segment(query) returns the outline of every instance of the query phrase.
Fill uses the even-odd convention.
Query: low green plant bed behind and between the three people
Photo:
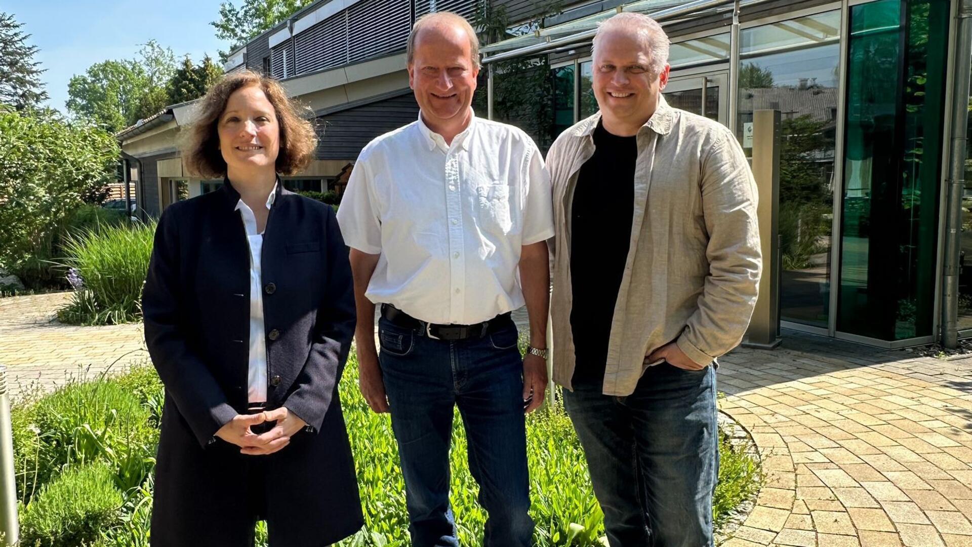
[[[391,419],[388,415],[375,415],[367,408],[358,390],[358,369],[353,356],[339,388],[357,462],[365,520],[364,529],[339,545],[404,547],[409,543],[408,518]],[[48,513],[61,515],[63,511],[59,507],[63,503],[44,501],[53,496],[47,492],[68,478],[80,481],[75,478],[74,470],[87,469],[94,463],[108,472],[98,471],[99,480],[104,484],[99,487],[101,493],[93,498],[118,501],[109,496],[111,489],[124,492],[124,496],[121,502],[115,503],[119,511],[113,524],[99,521],[102,532],[93,546],[147,546],[153,496],[150,472],[155,464],[161,401],[162,385],[155,370],[141,366],[115,379],[71,384],[36,402],[17,405],[13,419],[17,491],[26,505],[21,513],[23,526],[30,524],[33,529],[48,530],[44,532],[48,535],[37,537],[50,539],[61,533],[57,530],[62,530],[65,536],[69,534],[66,528],[32,523],[52,523],[60,518]],[[724,435],[720,439],[722,463],[714,501],[716,523],[722,523],[740,501],[754,492],[759,472],[750,456],[734,449]],[[466,435],[458,413],[452,440],[451,500],[460,542],[478,545],[486,513],[476,501],[478,487],[469,473]],[[591,489],[579,442],[563,407],[554,404],[528,417],[527,445],[533,498],[531,516],[537,523],[535,544],[538,547],[602,545],[603,515]],[[112,504],[98,506],[107,505]],[[78,514],[87,515],[84,511]],[[102,515],[93,510],[91,514]],[[33,520],[23,520],[27,515]],[[258,545],[265,546],[265,526],[258,527],[257,537]],[[44,543],[48,544],[67,543]]]

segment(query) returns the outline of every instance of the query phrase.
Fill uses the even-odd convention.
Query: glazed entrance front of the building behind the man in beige
[[[780,112],[782,326],[886,347],[972,335],[972,185],[950,171],[969,165],[968,2],[629,3],[484,48],[493,117],[537,112],[529,130],[549,143],[593,114],[590,39],[619,10],[662,21],[668,101],[733,129],[747,155],[753,112]],[[543,104],[507,100],[532,80]]]

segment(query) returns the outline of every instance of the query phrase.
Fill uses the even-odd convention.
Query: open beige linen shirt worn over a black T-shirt
[[[571,210],[601,114],[565,130],[547,154],[553,184],[553,377],[572,388]],[[677,342],[709,364],[743,339],[762,270],[756,185],[728,128],[664,98],[637,135],[635,213],[611,321],[604,393],[625,396],[645,356]],[[604,181],[605,192],[612,184]],[[659,361],[660,362],[660,361]]]

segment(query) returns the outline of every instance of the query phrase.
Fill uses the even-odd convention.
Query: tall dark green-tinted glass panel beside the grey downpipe
[[[932,334],[948,0],[851,7],[840,331]]]

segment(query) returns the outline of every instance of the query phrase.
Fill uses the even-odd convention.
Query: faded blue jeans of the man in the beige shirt
[[[715,369],[648,367],[635,392],[564,390],[611,547],[713,545]]]

